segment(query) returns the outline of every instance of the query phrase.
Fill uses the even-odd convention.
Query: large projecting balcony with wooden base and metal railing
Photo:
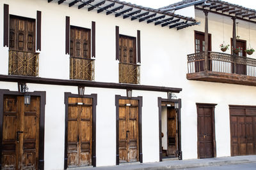
[[[205,53],[189,54],[187,79],[256,86],[256,59],[209,52],[207,65]]]

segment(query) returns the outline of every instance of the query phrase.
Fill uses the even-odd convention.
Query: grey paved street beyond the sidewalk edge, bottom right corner
[[[226,170],[226,169],[228,169],[228,170],[231,170],[231,169],[232,170],[251,170],[251,169],[256,169],[256,163],[188,168],[188,170]]]

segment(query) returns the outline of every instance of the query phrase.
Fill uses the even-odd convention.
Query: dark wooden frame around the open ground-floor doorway
[[[181,150],[181,99],[163,99],[158,97],[158,117],[159,117],[159,162],[163,161],[163,150],[162,150],[162,102],[178,102],[179,109],[178,109],[178,147],[179,147],[179,160],[182,160],[182,150]]]

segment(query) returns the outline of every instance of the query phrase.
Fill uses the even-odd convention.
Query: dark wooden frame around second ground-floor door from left
[[[64,151],[64,169],[67,169],[67,143],[68,143],[68,97],[79,97],[79,98],[92,98],[92,166],[96,167],[96,106],[97,106],[97,94],[91,95],[78,95],[65,92],[65,151]]]

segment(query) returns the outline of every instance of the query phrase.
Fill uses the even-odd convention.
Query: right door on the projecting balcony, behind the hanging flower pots
[[[233,39],[231,38],[231,49],[233,54],[233,45],[232,45]],[[236,40],[236,46],[237,48],[240,48],[240,52],[238,53],[238,56],[240,57],[246,57],[246,41],[245,40]],[[236,64],[236,73],[237,74],[247,74],[246,64]]]

